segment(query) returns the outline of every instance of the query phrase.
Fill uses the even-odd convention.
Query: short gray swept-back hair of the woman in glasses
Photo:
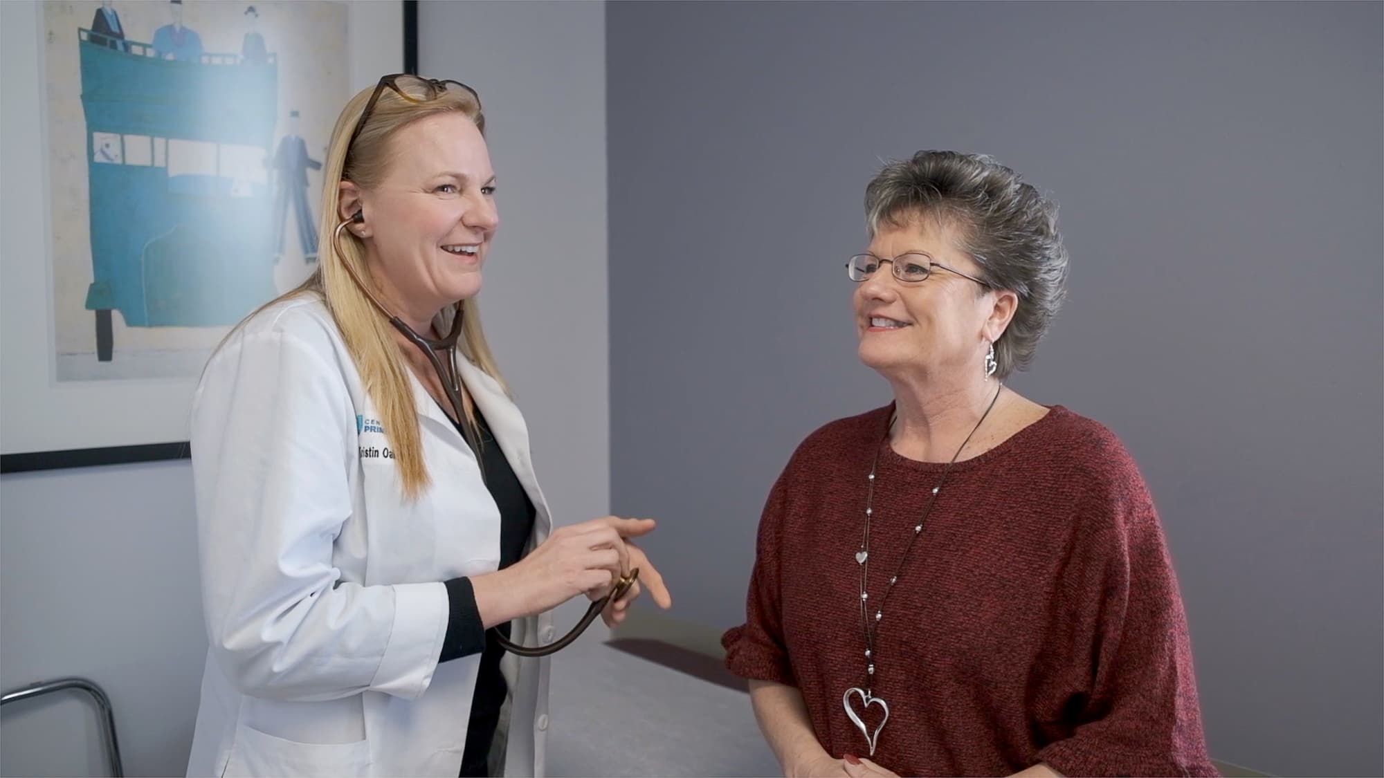
[[[1067,291],[1067,249],[1057,203],[984,154],[919,151],[894,161],[865,187],[871,237],[882,224],[929,216],[955,226],[959,245],[992,288],[1019,295],[1019,307],[995,343],[995,374],[1028,367],[1038,341]]]

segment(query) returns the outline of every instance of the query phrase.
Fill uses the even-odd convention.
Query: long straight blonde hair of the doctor
[[[365,109],[365,102],[374,93],[374,87],[357,93],[346,102],[346,108],[336,119],[327,159],[322,163],[322,216],[318,224],[318,242],[325,251],[321,252],[317,271],[300,287],[278,299],[317,293],[327,303],[327,309],[346,342],[346,350],[356,363],[356,370],[360,371],[365,392],[375,401],[379,421],[394,450],[403,493],[412,500],[428,487],[432,479],[428,473],[428,465],[424,462],[422,435],[418,426],[418,408],[414,403],[408,365],[404,361],[400,343],[394,339],[393,325],[352,278],[354,273],[361,282],[370,282],[364,242],[350,230],[342,230],[339,242],[335,239],[336,227],[343,221],[339,184],[353,181],[364,190],[376,187],[393,161],[394,148],[390,140],[414,122],[437,114],[458,112],[471,118],[483,136],[486,118],[480,112],[480,101],[476,100],[475,94],[459,86],[448,84],[448,89],[437,93],[436,97],[426,98],[429,91],[422,79],[407,76],[400,78],[396,83],[399,89],[419,102],[404,100],[392,89],[382,89],[354,143],[350,140],[352,134],[356,132],[356,125],[360,122],[360,115]],[[462,359],[469,360],[494,378],[508,393],[495,357],[486,343],[476,300],[462,300],[458,303],[458,309],[462,317],[462,335],[457,342],[457,352],[461,353]],[[439,354],[444,361],[450,356]],[[461,399],[466,417],[462,424],[466,425],[469,437],[479,442],[476,415],[471,393],[465,386],[461,389]]]

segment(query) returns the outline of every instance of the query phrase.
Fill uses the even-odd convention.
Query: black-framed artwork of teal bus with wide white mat
[[[187,457],[212,349],[317,264],[338,112],[417,71],[417,1],[0,6],[32,181],[4,187],[0,472]]]

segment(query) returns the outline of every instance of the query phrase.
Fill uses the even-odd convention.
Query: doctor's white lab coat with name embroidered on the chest
[[[537,509],[533,548],[551,516],[523,417],[457,363]],[[457,428],[412,386],[432,486],[410,503],[318,298],[260,311],[208,364],[191,440],[210,649],[188,775],[455,778],[480,655],[437,663],[441,581],[497,569],[500,512]],[[512,630],[552,641],[547,613]],[[543,775],[548,660],[507,655],[502,670],[505,775]]]

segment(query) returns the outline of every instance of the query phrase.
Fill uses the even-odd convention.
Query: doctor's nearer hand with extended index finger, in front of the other
[[[624,539],[650,532],[653,519],[619,516],[558,527],[531,554],[507,568],[519,587],[525,613],[541,613],[579,594],[609,590],[630,569]]]

